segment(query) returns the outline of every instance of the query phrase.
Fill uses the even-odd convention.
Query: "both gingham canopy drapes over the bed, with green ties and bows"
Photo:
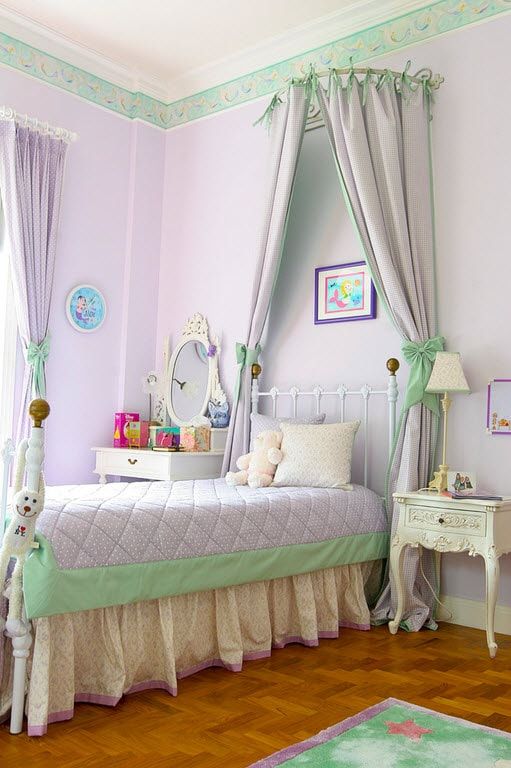
[[[437,351],[444,340],[437,335],[435,297],[435,238],[431,172],[431,89],[442,78],[428,71],[419,77],[388,70],[365,70],[359,81],[353,67],[343,77],[329,73],[325,89],[311,70],[298,90],[271,115],[272,163],[265,227],[246,345],[238,345],[239,401],[236,398],[229,432],[224,472],[246,452],[249,442],[250,366],[259,354],[280,263],[285,224],[305,128],[308,93],[315,93],[330,139],[344,199],[359,237],[380,300],[402,338],[402,351],[410,365],[394,449],[388,467],[386,500],[392,530],[397,525],[394,491],[423,488],[431,474],[438,433],[438,398],[425,393]],[[297,95],[301,98],[298,100]],[[298,106],[300,102],[301,108]],[[273,111],[273,115],[271,114]],[[294,117],[293,117],[294,115]],[[303,121],[303,122],[302,122]],[[286,141],[289,139],[289,141]],[[247,367],[248,366],[248,367]],[[417,550],[405,555],[408,589],[404,626],[436,627],[433,553]],[[393,585],[387,580],[373,611],[373,621],[394,615]]]

